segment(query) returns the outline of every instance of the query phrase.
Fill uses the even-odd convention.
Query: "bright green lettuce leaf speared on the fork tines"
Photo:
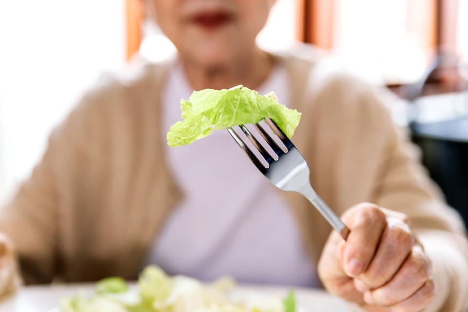
[[[194,91],[189,101],[180,101],[183,121],[177,121],[167,134],[169,146],[190,144],[209,136],[213,130],[250,124],[271,118],[292,137],[301,113],[278,103],[274,94],[262,96],[243,86],[231,89]]]

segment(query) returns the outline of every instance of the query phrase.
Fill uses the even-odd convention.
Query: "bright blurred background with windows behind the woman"
[[[1,203],[100,75],[175,53],[143,6],[0,1]],[[395,93],[395,121],[409,125],[430,175],[468,221],[468,0],[277,0],[257,42],[323,55]]]

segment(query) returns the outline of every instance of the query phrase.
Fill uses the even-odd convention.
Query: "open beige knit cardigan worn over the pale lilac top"
[[[309,163],[313,188],[337,214],[362,201],[408,214],[433,260],[434,309],[460,311],[468,294],[463,224],[376,90],[312,60],[274,59],[286,66],[292,106],[303,113],[292,140]],[[132,77],[103,78],[55,129],[32,176],[1,209],[0,232],[16,244],[26,283],[137,277],[182,196],[162,153],[168,68],[147,64]],[[280,193],[317,263],[331,227],[306,199]]]

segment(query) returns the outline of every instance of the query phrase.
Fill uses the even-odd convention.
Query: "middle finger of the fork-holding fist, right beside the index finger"
[[[414,236],[408,224],[395,218],[387,218],[377,252],[367,270],[358,278],[370,289],[387,283],[411,253]]]

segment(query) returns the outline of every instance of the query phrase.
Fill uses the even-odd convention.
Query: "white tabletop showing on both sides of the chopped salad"
[[[47,312],[57,307],[60,299],[76,294],[80,290],[92,292],[93,286],[91,284],[70,284],[23,287],[14,295],[0,302],[0,312]],[[283,297],[288,289],[275,286],[241,286],[239,291],[254,291]],[[343,300],[322,290],[295,288],[294,292],[299,305],[311,312],[351,311]]]

